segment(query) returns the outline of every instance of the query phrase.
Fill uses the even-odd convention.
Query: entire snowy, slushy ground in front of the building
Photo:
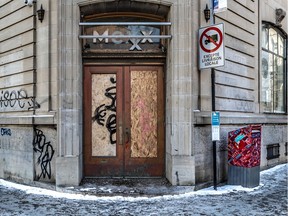
[[[278,165],[261,172],[258,187],[219,185],[217,191],[171,186],[165,179],[87,179],[57,191],[0,179],[0,215],[287,216],[287,173],[288,164]]]

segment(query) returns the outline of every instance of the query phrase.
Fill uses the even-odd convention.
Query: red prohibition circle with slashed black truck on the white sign
[[[209,31],[216,31],[219,35],[219,40],[215,41],[210,35],[208,35],[207,32]],[[214,44],[215,47],[211,49],[206,48],[203,44],[203,37],[206,37],[208,42]],[[223,42],[223,34],[219,28],[214,27],[214,26],[205,29],[200,36],[200,47],[204,52],[207,52],[207,53],[215,52],[217,49],[219,49],[222,42]]]

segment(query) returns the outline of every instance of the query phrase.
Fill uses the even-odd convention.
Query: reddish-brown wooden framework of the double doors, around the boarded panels
[[[161,74],[162,74],[162,81],[160,81],[160,86],[159,85],[159,78],[158,78],[158,83],[157,83],[157,89],[160,88],[160,92],[162,92],[162,96],[160,98],[160,100],[158,100],[158,104],[157,104],[157,110],[158,110],[158,115],[159,115],[159,112],[162,113],[161,115],[161,120],[163,123],[162,123],[162,129],[159,129],[160,127],[160,124],[161,122],[159,123],[157,121],[157,131],[160,132],[161,134],[159,134],[159,136],[162,137],[162,150],[159,149],[159,146],[160,145],[157,145],[157,152],[158,154],[160,154],[160,160],[162,160],[162,163],[160,165],[157,165],[157,166],[152,166],[153,167],[153,170],[150,172],[151,175],[141,175],[141,176],[134,176],[134,175],[128,175],[127,172],[130,172],[130,170],[133,170],[133,169],[136,169],[137,170],[137,166],[139,166],[139,161],[142,160],[143,161],[143,158],[131,158],[130,157],[130,169],[128,169],[126,167],[126,164],[128,163],[128,157],[130,154],[129,154],[129,151],[130,151],[130,148],[127,148],[126,147],[122,147],[120,145],[116,145],[116,153],[117,154],[122,154],[124,155],[122,157],[121,160],[119,160],[118,157],[115,157],[115,160],[111,160],[111,158],[109,157],[109,160],[110,160],[110,163],[109,165],[107,164],[107,166],[105,166],[107,163],[106,159],[107,157],[94,157],[92,160],[95,161],[96,163],[98,164],[101,164],[101,170],[108,170],[109,169],[109,172],[106,172],[106,173],[113,173],[113,175],[99,175],[99,176],[91,176],[90,174],[87,174],[87,169],[90,169],[90,168],[95,168],[95,165],[91,165],[92,167],[89,167],[90,165],[86,164],[86,159],[89,155],[89,149],[87,149],[87,146],[85,146],[85,143],[86,142],[91,142],[91,136],[85,136],[85,131],[91,131],[91,117],[89,115],[85,115],[85,111],[87,110],[87,106],[91,108],[91,105],[88,104],[90,103],[91,101],[91,89],[92,89],[92,85],[91,85],[91,72],[89,75],[87,75],[87,73],[89,72],[86,72],[86,68],[97,68],[98,70],[99,69],[104,69],[106,70],[105,73],[114,73],[115,71],[118,71],[115,72],[116,74],[116,79],[117,79],[117,82],[121,82],[123,83],[123,79],[124,79],[124,76],[121,75],[121,72],[119,73],[119,71],[123,70],[123,74],[126,73],[126,74],[129,74],[130,76],[130,73],[128,71],[127,73],[127,70],[130,70],[130,69],[137,69],[137,68],[155,68],[157,67],[158,69],[160,68],[161,70]],[[88,69],[87,69],[88,70]],[[114,71],[114,72],[113,72]],[[141,178],[141,177],[164,177],[165,176],[165,152],[166,152],[166,142],[165,142],[165,131],[166,131],[166,128],[165,128],[165,72],[164,72],[164,65],[163,64],[137,64],[137,65],[134,65],[134,64],[83,64],[83,157],[84,157],[84,160],[83,160],[83,173],[84,173],[84,177],[137,177],[137,178]],[[86,74],[85,74],[86,73]],[[120,75],[119,75],[120,74]],[[90,86],[88,87],[88,92],[87,92],[87,89],[85,89],[85,85],[87,85],[87,83],[90,83]],[[121,88],[122,85],[117,85],[116,86],[116,90],[117,90],[117,95],[119,94],[118,92],[120,92],[121,95],[129,95],[129,87],[130,87],[130,82],[129,82],[129,87],[123,87],[123,89]],[[125,92],[124,92],[125,91]],[[158,92],[158,91],[157,91]],[[130,98],[130,96],[129,96]],[[125,97],[125,100],[127,99],[127,97]],[[130,99],[129,99],[130,100]],[[124,100],[117,100],[117,106],[116,106],[116,109],[118,111],[118,109],[122,109],[123,111],[123,108],[124,108],[124,104],[123,103],[126,103],[127,101],[124,101]],[[120,112],[122,112],[120,111]],[[128,115],[125,115],[126,117],[125,118],[130,118],[130,113]],[[89,119],[90,118],[90,119]],[[118,124],[120,124],[121,126],[124,126],[123,125],[123,122],[122,122],[122,116],[119,116],[117,115],[116,117],[117,119],[117,130],[118,130]],[[126,119],[125,122],[129,122],[130,120]],[[88,122],[88,123],[87,123]],[[130,123],[130,122],[129,122]],[[87,132],[86,132],[87,133]],[[90,132],[89,132],[90,133]],[[116,140],[120,140],[120,136],[121,136],[121,139],[126,139],[125,137],[125,134],[122,133],[122,135],[120,135],[120,133],[117,132],[117,138]],[[123,141],[125,142],[125,141]],[[125,144],[125,143],[124,143]],[[130,147],[131,147],[131,144],[130,144]],[[126,150],[125,150],[126,149]],[[90,151],[91,152],[91,151]],[[126,156],[126,157],[125,157]],[[92,157],[92,156],[90,156]],[[159,159],[158,159],[159,160]],[[150,165],[150,164],[153,164],[155,160],[153,160],[152,158],[148,158],[147,161],[145,161],[145,163],[147,163],[147,165]],[[111,163],[112,162],[112,163]],[[142,162],[143,163],[143,162]],[[112,165],[112,166],[111,166]],[[149,169],[150,170],[150,169]],[[161,172],[159,172],[159,170],[161,170]],[[132,172],[131,172],[132,173]]]

